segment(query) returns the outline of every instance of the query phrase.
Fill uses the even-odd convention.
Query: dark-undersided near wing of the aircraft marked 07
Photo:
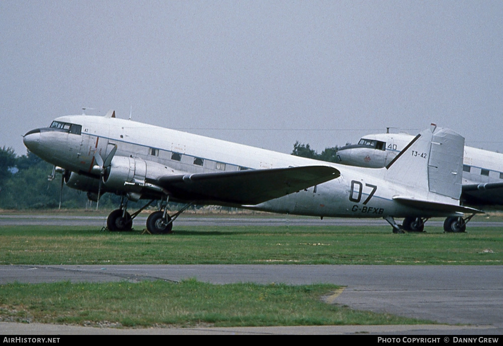
[[[155,184],[179,199],[253,205],[339,176],[333,167],[303,166],[164,176]]]

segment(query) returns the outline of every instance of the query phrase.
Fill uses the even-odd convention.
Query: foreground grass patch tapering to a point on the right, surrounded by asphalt
[[[324,303],[339,287],[186,280],[0,286],[0,320],[114,327],[431,323]]]

